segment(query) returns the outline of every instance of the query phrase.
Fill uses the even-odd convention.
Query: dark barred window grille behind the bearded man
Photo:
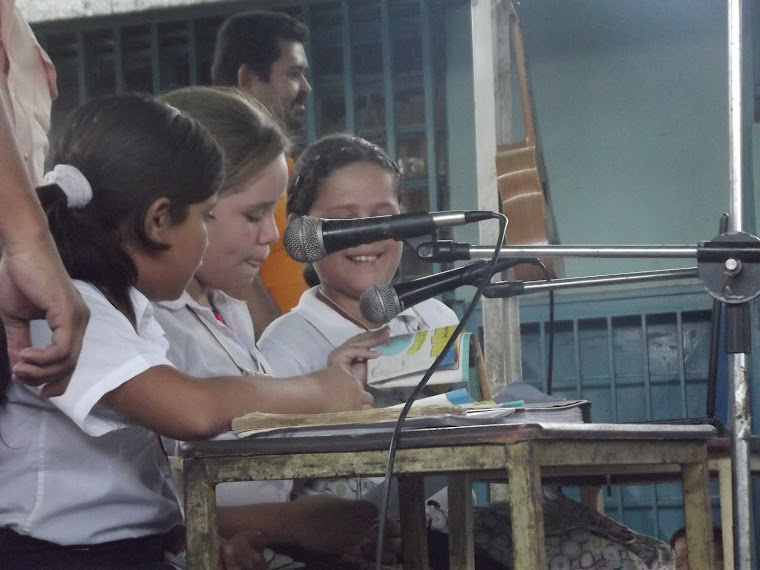
[[[271,4],[312,32],[307,141],[335,131],[367,138],[399,162],[406,210],[445,208],[441,10],[428,0]],[[250,5],[219,3],[37,24],[34,31],[58,71],[52,134],[71,109],[98,95],[210,83],[216,31],[245,9]],[[402,267],[405,277],[428,270],[411,256]]]

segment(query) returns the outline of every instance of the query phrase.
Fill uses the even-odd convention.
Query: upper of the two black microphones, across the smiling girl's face
[[[435,233],[441,227],[461,226],[493,217],[493,212],[479,210],[415,212],[347,219],[300,216],[285,228],[282,243],[285,251],[296,261],[313,263],[335,251],[356,245],[385,239],[400,241]]]

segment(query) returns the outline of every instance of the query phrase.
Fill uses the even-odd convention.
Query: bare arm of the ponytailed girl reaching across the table
[[[108,392],[101,402],[161,435],[208,439],[249,412],[319,413],[359,410],[372,396],[345,365],[294,378],[263,374],[198,379],[153,366]]]

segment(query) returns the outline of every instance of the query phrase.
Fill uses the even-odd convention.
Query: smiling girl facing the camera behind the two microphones
[[[288,187],[288,215],[364,218],[398,214],[401,174],[378,146],[348,134],[325,137],[308,147],[295,164]],[[310,269],[319,285],[306,291],[297,307],[279,317],[261,336],[259,349],[278,376],[319,370],[327,355],[353,335],[376,328],[359,310],[359,296],[389,283],[401,261],[402,244],[385,240],[338,251]],[[436,299],[424,301],[393,319],[391,335],[434,329],[458,322]],[[372,390],[371,390],[372,391]],[[375,405],[404,401],[403,391],[372,391]]]

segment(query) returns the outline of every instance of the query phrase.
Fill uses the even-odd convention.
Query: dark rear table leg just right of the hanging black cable
[[[428,570],[425,489],[419,475],[398,478],[404,570]]]

